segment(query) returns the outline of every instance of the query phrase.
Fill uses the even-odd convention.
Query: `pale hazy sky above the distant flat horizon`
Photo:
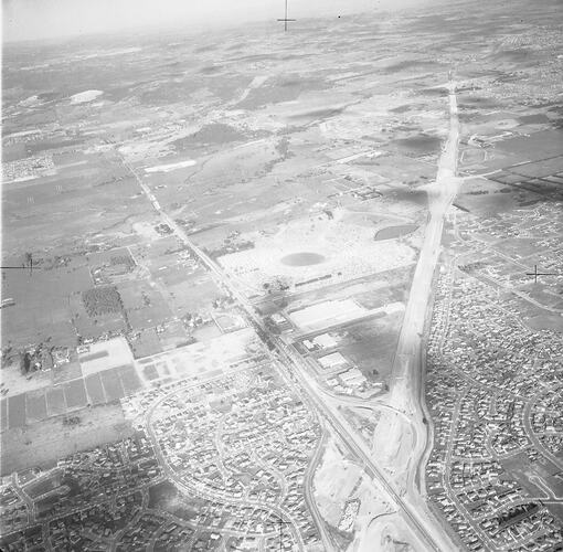
[[[428,0],[288,0],[289,17],[333,15]],[[3,40],[35,40],[144,26],[209,28],[284,15],[284,0],[2,0]]]

